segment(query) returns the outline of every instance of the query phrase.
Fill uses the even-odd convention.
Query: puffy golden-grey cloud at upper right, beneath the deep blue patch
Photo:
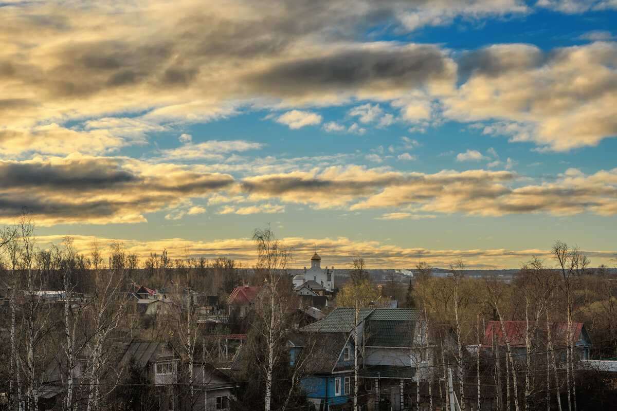
[[[546,150],[594,146],[617,134],[617,45],[597,42],[544,55],[533,46],[500,44],[463,59],[465,84],[444,99],[445,116],[523,124],[513,140]]]

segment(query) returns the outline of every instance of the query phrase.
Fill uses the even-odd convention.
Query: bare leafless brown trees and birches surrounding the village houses
[[[35,221],[25,211],[14,226],[0,232],[2,306],[0,315],[0,406],[45,408],[48,381],[61,381],[56,402],[64,410],[151,410],[154,387],[137,364],[121,364],[131,340],[164,341],[186,364],[217,365],[217,347],[202,335],[247,333],[240,368],[234,375],[231,409],[304,407],[303,370],[290,365],[286,337],[297,327],[299,301],[287,274],[291,250],[270,229],[255,230],[258,263],[247,274],[225,257],[195,259],[189,250],[173,258],[152,252],[145,261],[121,242],[93,242],[87,253],[67,237],[59,245],[36,242]],[[564,411],[601,409],[617,401],[617,378],[581,365],[571,341],[583,323],[594,346],[593,358],[617,357],[617,275],[606,267],[592,270],[578,248],[556,242],[553,258],[533,258],[511,283],[465,276],[465,264],[452,262],[449,277],[433,277],[423,262],[408,284],[391,277],[377,286],[354,258],[350,280],[341,285],[336,304],[379,306],[389,298],[399,307],[424,313],[428,323],[423,348],[423,379],[415,384],[415,407],[436,410],[448,402],[447,368],[455,391],[474,409]],[[243,274],[241,274],[243,273]],[[199,324],[199,307],[218,295],[220,305],[244,282],[262,286],[246,317],[231,310],[228,324]],[[170,312],[138,315],[129,293],[135,284],[160,290],[180,287]],[[56,291],[54,301],[44,293]],[[330,307],[331,309],[331,307]],[[507,335],[508,322],[523,324],[518,340],[486,340],[487,325]],[[490,323],[492,322],[492,323]],[[549,324],[566,324],[561,334]],[[565,335],[565,338],[563,338]],[[522,341],[522,342],[521,342]],[[360,341],[356,344],[359,346]],[[354,352],[361,364],[361,352]],[[71,370],[79,369],[77,382]],[[355,375],[360,365],[355,368]],[[179,401],[194,404],[193,367],[179,370]],[[184,381],[184,382],[181,382]],[[46,391],[47,390],[47,391]],[[362,387],[354,381],[354,397]],[[249,405],[250,404],[250,405]],[[189,407],[190,408],[190,407]]]

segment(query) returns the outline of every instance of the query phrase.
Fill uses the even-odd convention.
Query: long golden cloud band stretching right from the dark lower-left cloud
[[[399,173],[383,168],[331,167],[247,177],[241,182],[249,199],[278,198],[313,208],[397,208],[383,219],[418,218],[417,213],[465,213],[482,216],[547,212],[555,215],[617,210],[617,169],[586,175],[576,169],[555,182],[523,185],[510,171],[444,170],[435,174]]]

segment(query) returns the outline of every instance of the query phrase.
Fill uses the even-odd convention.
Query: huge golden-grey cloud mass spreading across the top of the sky
[[[356,102],[399,111],[378,127],[497,119],[524,132],[493,131],[550,150],[615,136],[614,43],[547,54],[500,44],[460,58],[436,44],[355,41],[379,24],[526,12],[515,0],[16,2],[0,9],[0,147],[109,153],[247,107],[284,108],[272,118],[300,128],[322,121],[307,107]]]

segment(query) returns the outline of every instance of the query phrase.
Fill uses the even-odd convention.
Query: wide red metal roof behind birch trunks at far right
[[[529,322],[529,328],[534,326],[534,322]],[[562,343],[566,343],[568,335],[568,323],[566,322],[549,322],[550,335],[552,340],[558,340]],[[571,341],[576,343],[581,336],[583,324],[582,322],[573,322],[571,328]],[[507,345],[506,338],[510,342],[511,347],[524,347],[525,346],[525,332],[527,328],[526,321],[504,321],[503,329],[499,321],[489,321],[486,325],[486,331],[484,332],[484,340],[482,346],[491,347],[493,344],[493,335],[495,336],[495,343],[499,346]],[[505,332],[505,333],[504,333]],[[537,326],[537,332],[546,333],[546,322],[540,322]]]

